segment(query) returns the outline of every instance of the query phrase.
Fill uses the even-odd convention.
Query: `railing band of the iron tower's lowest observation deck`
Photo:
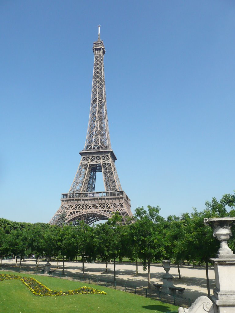
[[[122,191],[96,191],[96,192],[70,192],[70,193],[62,193],[62,199],[69,198],[97,198],[97,197],[124,197],[129,203],[131,200],[128,198],[126,193]]]

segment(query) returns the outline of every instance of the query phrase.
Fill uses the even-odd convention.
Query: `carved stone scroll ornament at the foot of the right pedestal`
[[[190,308],[180,307],[178,313],[214,313],[214,307],[212,301],[205,295],[202,295],[193,302]]]

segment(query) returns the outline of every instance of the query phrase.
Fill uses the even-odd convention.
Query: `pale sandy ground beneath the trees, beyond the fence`
[[[26,259],[22,261],[22,267],[32,266],[35,267],[35,260],[29,261]],[[46,262],[39,260],[40,265],[44,265]],[[56,269],[57,262],[50,262],[52,267]],[[3,260],[2,265],[14,266],[15,260]],[[18,263],[19,265],[19,263]],[[103,262],[97,263],[85,263],[85,276],[92,275],[97,276],[100,279],[113,280],[113,263],[108,263],[108,272],[105,272],[106,264]],[[62,262],[59,262],[59,267],[56,269],[58,272],[62,272]],[[165,273],[161,264],[151,264],[151,284],[162,283],[161,276]],[[81,262],[65,262],[65,274],[76,274],[80,275],[82,273],[82,263]],[[170,274],[173,275],[173,284],[175,286],[185,288],[183,295],[185,298],[196,299],[201,295],[207,295],[206,288],[206,268],[204,266],[192,265],[180,266],[181,279],[178,276],[178,269],[176,265],[172,265],[170,269]],[[122,262],[116,263],[116,280],[120,283],[133,284],[136,286],[148,286],[148,273],[143,271],[142,265],[138,264],[138,275],[136,275],[136,265],[134,263]],[[209,280],[211,294],[213,294],[213,288],[215,288],[215,274],[213,267],[209,268]]]

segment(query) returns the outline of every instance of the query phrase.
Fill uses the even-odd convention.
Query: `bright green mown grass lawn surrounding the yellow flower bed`
[[[0,271],[0,273],[13,274],[13,272],[3,271]],[[0,281],[1,313],[159,313],[178,310],[178,307],[174,305],[112,288],[47,276],[22,273],[17,273],[17,275],[34,277],[52,290],[71,290],[82,286],[91,286],[107,292],[107,295],[87,294],[40,297],[33,295],[20,280],[4,280]]]

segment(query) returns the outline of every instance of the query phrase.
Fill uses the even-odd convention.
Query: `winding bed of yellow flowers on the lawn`
[[[0,274],[0,281],[2,280],[21,280],[22,283],[34,294],[39,296],[58,296],[58,295],[79,295],[79,294],[96,294],[96,295],[107,295],[106,292],[94,289],[91,287],[83,286],[78,289],[58,291],[50,290],[48,287],[41,284],[38,280],[32,277],[22,277],[20,275],[13,274]]]

